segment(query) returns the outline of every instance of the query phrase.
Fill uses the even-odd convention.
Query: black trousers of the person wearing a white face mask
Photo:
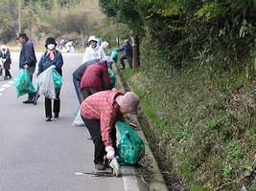
[[[54,99],[54,113],[58,114],[60,111],[60,98],[59,98],[60,90],[56,96],[57,99]],[[52,114],[52,99],[46,98],[44,99],[44,108],[45,108],[45,116],[46,117],[53,117]]]

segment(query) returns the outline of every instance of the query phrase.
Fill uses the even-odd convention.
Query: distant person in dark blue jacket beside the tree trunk
[[[132,47],[130,46],[128,39],[125,40],[125,45],[121,49],[116,50],[116,52],[122,52],[122,51],[125,51],[125,55],[123,55],[120,58],[120,63],[122,65],[122,68],[120,70],[126,69],[126,65],[124,62],[125,59],[128,60],[128,67],[132,69]]]

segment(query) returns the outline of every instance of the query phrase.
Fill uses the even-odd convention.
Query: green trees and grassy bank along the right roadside
[[[256,190],[256,3],[100,5],[139,36],[140,67],[122,74],[170,190]]]

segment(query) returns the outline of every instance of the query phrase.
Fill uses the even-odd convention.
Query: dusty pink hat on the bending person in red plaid
[[[137,107],[140,103],[139,96],[135,95],[132,92],[128,92],[125,96],[117,96],[116,102],[122,108],[124,108],[128,114],[136,115],[137,114]]]

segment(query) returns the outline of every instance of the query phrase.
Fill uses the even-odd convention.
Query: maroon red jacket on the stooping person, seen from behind
[[[97,92],[109,90],[111,87],[107,65],[97,62],[86,68],[81,77],[80,88],[94,88]]]

